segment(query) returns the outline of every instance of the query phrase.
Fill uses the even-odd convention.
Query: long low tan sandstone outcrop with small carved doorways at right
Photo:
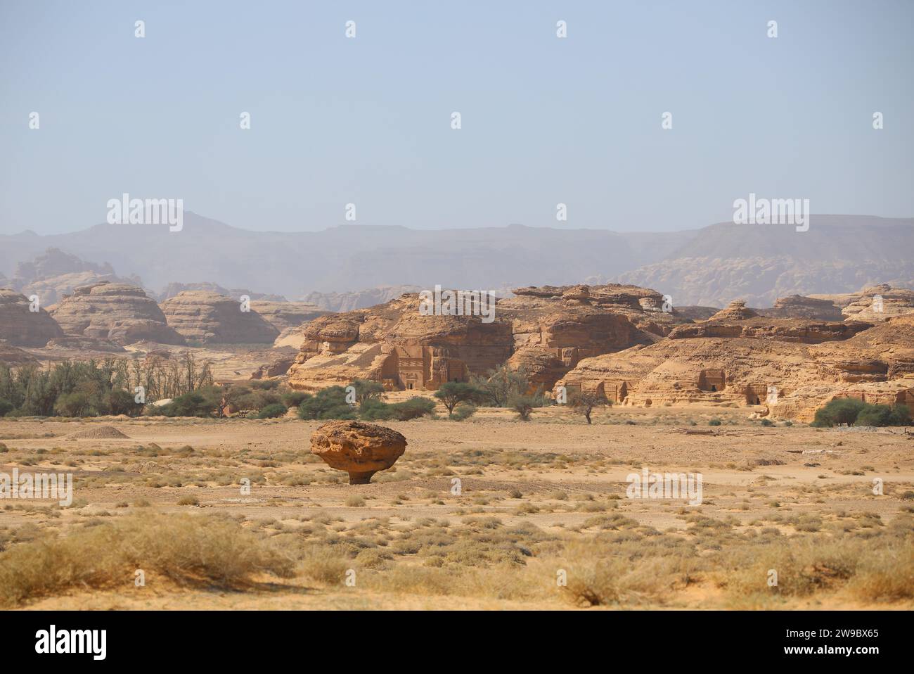
[[[741,332],[676,336],[693,327],[685,326],[675,338],[583,360],[556,386],[596,391],[622,405],[764,405],[773,416],[802,421],[835,397],[914,409],[914,316],[863,326],[818,344]]]

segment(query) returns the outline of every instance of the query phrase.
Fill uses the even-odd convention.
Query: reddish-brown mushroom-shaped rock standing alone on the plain
[[[367,485],[379,470],[387,470],[406,450],[401,433],[377,423],[335,421],[311,434],[311,453],[336,470],[349,474],[350,485]]]

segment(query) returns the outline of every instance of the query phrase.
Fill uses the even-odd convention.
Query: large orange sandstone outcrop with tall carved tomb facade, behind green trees
[[[436,390],[508,362],[548,390],[581,358],[650,344],[683,322],[663,311],[663,295],[644,288],[517,288],[499,300],[494,321],[422,316],[419,294],[385,305],[314,319],[303,328],[289,383],[315,390],[354,379],[388,390]]]

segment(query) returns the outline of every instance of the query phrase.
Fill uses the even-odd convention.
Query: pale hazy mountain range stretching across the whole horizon
[[[186,212],[178,232],[101,224],[67,234],[0,236],[0,285],[15,280],[18,263],[48,248],[93,265],[108,263],[104,272],[138,276],[156,294],[168,284],[199,283],[292,299],[377,286],[497,290],[622,282],[670,294],[676,305],[720,306],[741,298],[768,306],[788,294],[850,293],[877,283],[914,286],[914,219],[871,216],[813,215],[804,232],[733,223],[668,233],[522,225],[271,232],[240,230]]]

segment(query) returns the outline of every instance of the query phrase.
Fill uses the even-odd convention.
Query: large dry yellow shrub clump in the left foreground
[[[66,537],[42,531],[0,552],[0,604],[70,589],[132,586],[136,569],[179,584],[239,588],[255,573],[292,577],[294,563],[270,540],[231,519],[127,516]]]

